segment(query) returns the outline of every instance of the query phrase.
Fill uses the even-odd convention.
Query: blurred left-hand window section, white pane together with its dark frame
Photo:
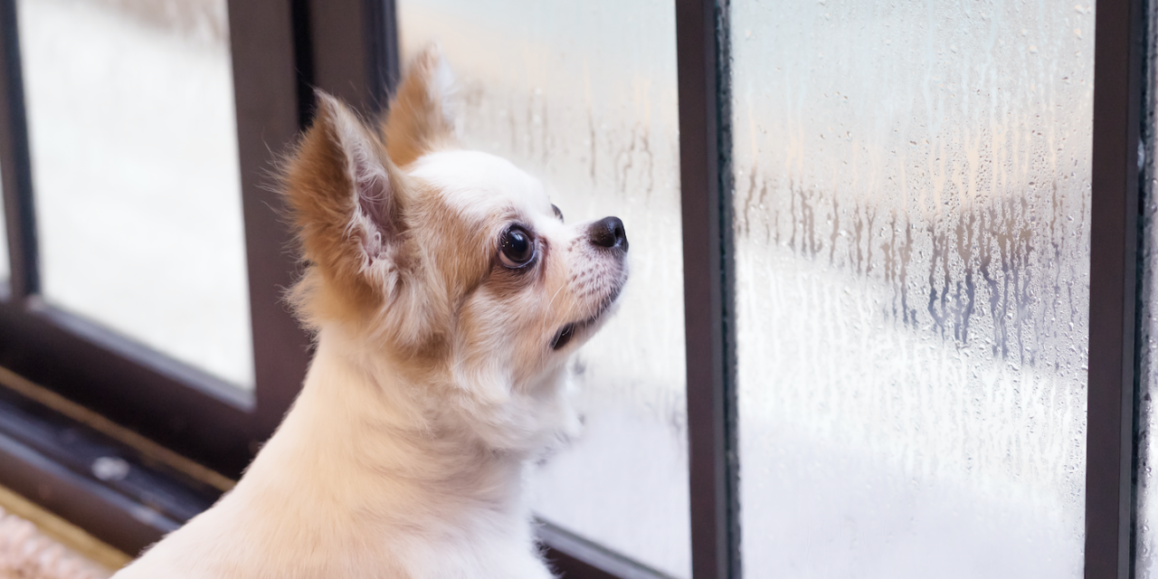
[[[236,476],[306,367],[267,186],[271,147],[308,110],[292,13],[49,0],[5,15],[2,365]]]

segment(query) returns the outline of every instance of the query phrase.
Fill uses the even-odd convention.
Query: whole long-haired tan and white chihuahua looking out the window
[[[461,149],[449,81],[427,49],[376,131],[318,94],[284,184],[305,387],[236,488],[117,579],[551,577],[521,486],[576,428],[564,365],[615,306],[628,240]]]

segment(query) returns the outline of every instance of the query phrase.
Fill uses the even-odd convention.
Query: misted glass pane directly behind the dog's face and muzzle
[[[620,313],[572,365],[581,437],[537,469],[547,520],[689,576],[675,12],[657,0],[402,0],[441,43],[466,146],[540,176],[569,221],[631,240]]]

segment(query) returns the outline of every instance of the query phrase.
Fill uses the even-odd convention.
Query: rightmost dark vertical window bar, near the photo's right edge
[[[1099,0],[1095,14],[1086,579],[1127,579],[1134,566],[1138,154],[1146,8],[1143,0]]]

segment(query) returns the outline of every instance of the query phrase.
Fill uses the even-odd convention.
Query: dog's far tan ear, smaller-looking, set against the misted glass
[[[437,44],[410,63],[382,129],[390,159],[398,167],[454,144],[453,90],[454,73]]]

